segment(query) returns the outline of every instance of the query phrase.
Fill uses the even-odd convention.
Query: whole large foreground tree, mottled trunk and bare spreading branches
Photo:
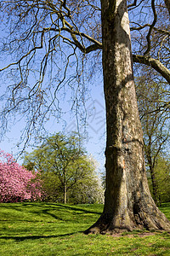
[[[107,134],[105,207],[86,233],[170,230],[147,183],[133,81],[134,61],[155,69],[170,83],[168,4],[161,0],[100,3],[101,6],[95,0],[1,2],[6,37],[1,52],[8,61],[1,68],[3,83],[8,83],[2,97],[7,99],[1,114],[3,131],[9,116],[15,113],[15,117],[26,115],[26,133],[21,139],[29,141],[32,135],[37,136],[41,132],[37,124],[42,129],[53,114],[59,118],[59,92],[64,91],[65,84],[67,93],[69,89],[73,92],[72,108],[77,110],[80,102],[84,106],[84,74],[90,70],[89,77],[94,68],[98,70],[102,52]],[[93,68],[85,68],[86,64]],[[79,109],[77,113],[82,112]]]

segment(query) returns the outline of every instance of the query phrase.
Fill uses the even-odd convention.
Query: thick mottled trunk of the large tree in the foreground
[[[86,234],[170,230],[151,198],[144,167],[125,0],[102,0],[103,70],[107,142],[105,207]]]

